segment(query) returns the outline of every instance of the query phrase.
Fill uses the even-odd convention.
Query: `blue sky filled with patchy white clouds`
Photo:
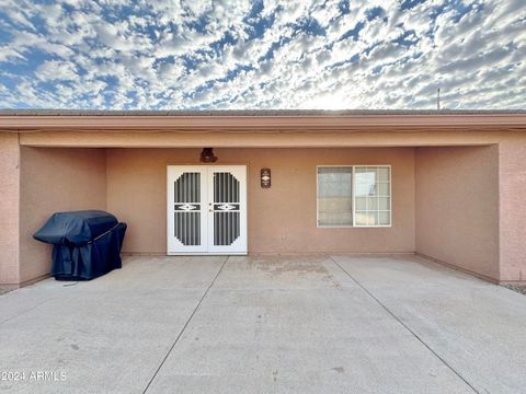
[[[0,107],[526,108],[525,0],[0,0]]]

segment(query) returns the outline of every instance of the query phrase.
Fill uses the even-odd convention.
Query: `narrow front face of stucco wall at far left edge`
[[[19,283],[19,136],[0,134],[0,285]]]

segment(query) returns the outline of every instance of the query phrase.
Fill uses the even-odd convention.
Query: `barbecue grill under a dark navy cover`
[[[122,267],[126,223],[101,210],[54,213],[33,236],[53,244],[52,276],[87,280]]]

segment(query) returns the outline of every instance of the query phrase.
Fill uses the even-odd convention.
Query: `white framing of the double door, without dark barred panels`
[[[214,174],[230,173],[239,182],[239,236],[230,245],[214,244],[214,220],[225,207],[214,204]],[[199,202],[188,204],[192,212],[201,215],[201,244],[183,245],[175,236],[174,181],[183,173],[199,173]],[[247,165],[168,165],[167,166],[167,254],[168,255],[245,255],[248,253],[247,227]],[[195,201],[195,195],[194,195]],[[224,201],[218,201],[224,202]],[[228,206],[229,204],[227,204]],[[233,209],[227,207],[227,209]],[[217,213],[217,215],[216,215]],[[235,213],[232,213],[235,215]],[[237,223],[237,221],[236,221]]]

